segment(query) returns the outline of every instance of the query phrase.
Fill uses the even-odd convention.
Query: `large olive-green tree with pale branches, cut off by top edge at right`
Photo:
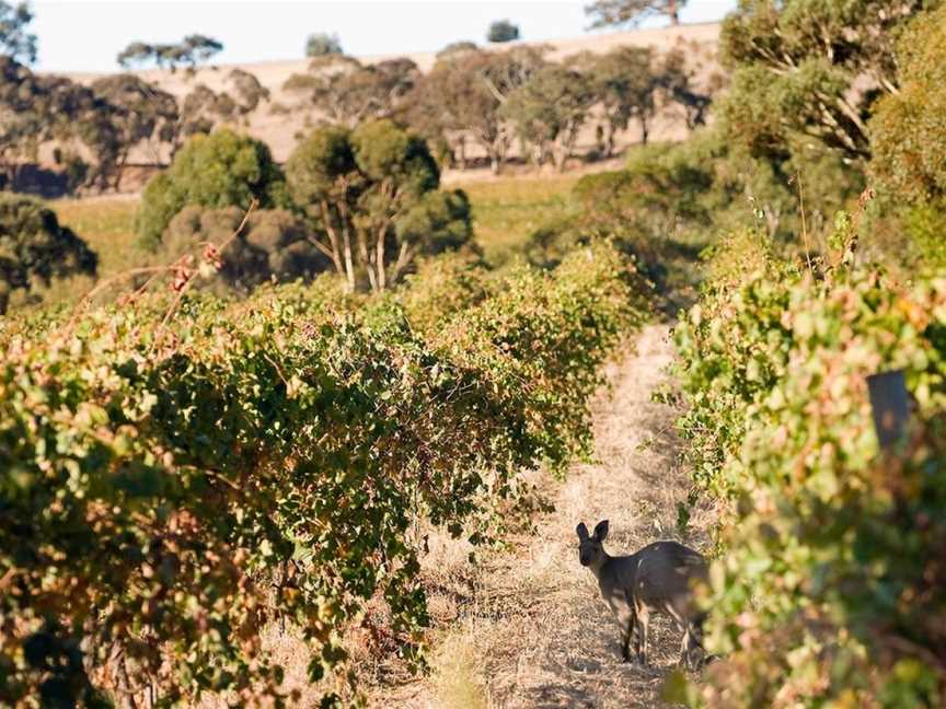
[[[723,23],[731,70],[720,115],[757,153],[815,139],[847,160],[870,158],[874,104],[898,91],[896,39],[927,0],[740,0]]]

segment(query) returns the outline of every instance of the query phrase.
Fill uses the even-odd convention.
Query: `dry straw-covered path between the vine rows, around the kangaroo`
[[[554,511],[504,553],[465,563],[449,542],[428,561],[437,625],[434,672],[372,693],[372,705],[404,708],[661,707],[679,636],[651,626],[653,669],[621,662],[619,635],[591,573],[578,563],[575,525],[611,522],[608,549],[627,554],[679,538],[677,503],[685,499],[676,466],[674,411],[651,400],[672,357],[667,325],[649,325],[608,369],[610,393],[595,402],[596,462],[565,481],[537,476]],[[702,548],[712,513],[695,510],[688,544]]]

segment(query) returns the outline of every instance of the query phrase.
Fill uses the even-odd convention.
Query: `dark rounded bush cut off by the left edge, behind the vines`
[[[95,275],[97,257],[53,210],[30,197],[0,194],[0,314],[14,291],[76,274]]]

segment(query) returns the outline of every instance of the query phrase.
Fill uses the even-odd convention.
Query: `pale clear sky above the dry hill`
[[[215,63],[303,56],[305,37],[337,34],[347,54],[435,51],[451,42],[482,44],[494,20],[509,19],[523,39],[587,32],[585,1],[540,0],[33,0],[41,71],[117,71],[134,40],[177,42],[199,33],[223,43]],[[723,18],[736,0],[691,0],[683,22]],[[651,20],[644,26],[660,26]],[[600,32],[600,31],[596,31]]]

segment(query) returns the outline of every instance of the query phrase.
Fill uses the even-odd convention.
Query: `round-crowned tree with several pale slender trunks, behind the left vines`
[[[440,193],[440,171],[418,136],[390,120],[312,132],[286,165],[289,193],[324,233],[321,244],[349,290],[397,282],[424,254],[471,237],[462,193]]]

